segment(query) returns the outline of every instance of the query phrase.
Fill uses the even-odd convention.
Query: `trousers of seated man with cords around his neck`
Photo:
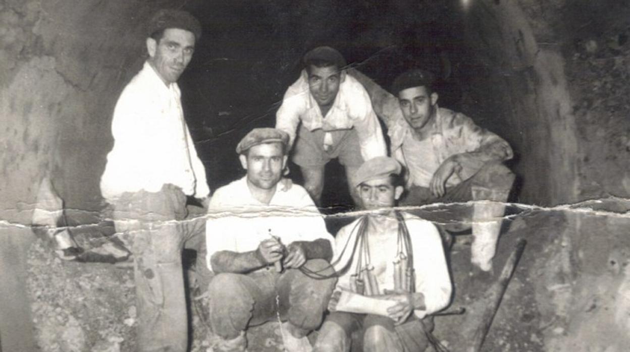
[[[425,318],[427,324],[418,323],[417,317],[411,315],[403,324],[403,329],[417,329],[406,331],[406,336],[413,336],[415,351],[408,351],[389,317],[374,314],[355,314],[348,312],[331,312],[326,317],[319,330],[314,351],[317,352],[422,352],[428,345],[424,329],[433,329],[432,318]],[[410,324],[411,323],[411,324]],[[398,327],[401,329],[401,327]],[[358,335],[355,332],[360,332]],[[353,337],[355,339],[353,339]],[[356,338],[358,337],[358,341]],[[358,345],[358,346],[357,346]]]

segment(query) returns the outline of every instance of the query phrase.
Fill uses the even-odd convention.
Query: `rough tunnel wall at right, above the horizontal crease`
[[[630,4],[467,3],[469,105],[517,153],[515,200],[629,196]]]

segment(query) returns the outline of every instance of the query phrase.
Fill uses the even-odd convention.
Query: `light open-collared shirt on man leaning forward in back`
[[[299,123],[309,131],[321,128],[324,132],[349,130],[355,128],[358,135],[360,152],[364,160],[385,156],[387,147],[381,125],[372,109],[370,96],[365,88],[352,76],[346,75],[326,116],[321,115],[317,101],[309,91],[306,70],[292,84],[282,99],[282,106],[276,113],[276,128],[289,133],[290,145],[293,145]],[[324,145],[335,145],[331,133],[324,133]],[[324,147],[324,150],[329,147]]]

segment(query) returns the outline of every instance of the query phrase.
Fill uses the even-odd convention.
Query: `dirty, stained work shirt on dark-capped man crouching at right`
[[[423,141],[414,139],[412,128],[402,116],[387,120],[392,155],[409,170],[408,186],[429,187],[438,167],[454,155],[458,155],[457,161],[466,173],[453,174],[447,186],[473,176],[484,162],[512,159],[512,148],[495,133],[475,125],[462,113],[436,109],[433,130]]]

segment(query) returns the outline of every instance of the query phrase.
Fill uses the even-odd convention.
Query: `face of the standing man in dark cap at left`
[[[180,28],[166,28],[156,42],[147,38],[149,62],[164,83],[176,82],[184,72],[195,51],[195,35]]]

